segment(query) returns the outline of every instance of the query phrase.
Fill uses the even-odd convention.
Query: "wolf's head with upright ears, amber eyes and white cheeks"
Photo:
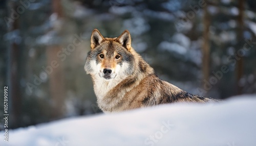
[[[95,29],[84,69],[87,74],[105,80],[127,77],[134,71],[134,56],[131,51],[133,48],[129,31],[125,30],[119,37],[104,38]]]

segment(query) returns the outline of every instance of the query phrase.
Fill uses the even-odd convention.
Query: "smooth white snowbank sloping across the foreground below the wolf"
[[[3,135],[3,131],[1,132]],[[256,145],[256,95],[62,119],[9,131],[0,145]]]

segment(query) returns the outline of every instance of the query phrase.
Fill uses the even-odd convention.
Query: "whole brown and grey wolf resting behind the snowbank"
[[[104,112],[174,102],[215,101],[160,80],[131,46],[127,30],[117,38],[104,38],[97,29],[93,30],[84,69],[92,77],[98,106]]]

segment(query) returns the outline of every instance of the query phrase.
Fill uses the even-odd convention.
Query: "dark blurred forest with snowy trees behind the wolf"
[[[2,0],[0,15],[11,128],[100,112],[83,69],[93,29],[104,37],[129,30],[159,77],[190,93],[256,92],[255,0]]]

